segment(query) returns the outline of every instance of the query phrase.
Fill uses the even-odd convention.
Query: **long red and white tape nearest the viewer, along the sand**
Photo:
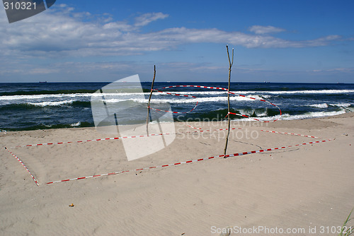
[[[261,149],[261,150],[257,150],[257,151],[248,151],[248,152],[243,152],[243,153],[233,153],[233,154],[229,154],[229,155],[216,155],[216,156],[212,156],[210,158],[200,158],[200,159],[197,159],[197,160],[187,160],[187,161],[183,161],[181,163],[173,163],[173,164],[167,164],[167,165],[157,165],[157,166],[152,166],[152,167],[139,168],[139,169],[135,169],[135,170],[125,170],[125,171],[119,171],[119,172],[110,172],[110,173],[101,174],[101,175],[90,175],[90,176],[86,176],[86,177],[77,177],[77,178],[72,178],[72,179],[62,179],[62,180],[58,180],[58,181],[47,182],[46,184],[55,184],[55,183],[59,183],[59,182],[68,182],[68,181],[79,180],[79,179],[89,179],[89,178],[93,178],[93,177],[104,177],[104,176],[108,176],[108,175],[118,175],[118,174],[122,174],[122,173],[125,173],[125,172],[135,172],[135,171],[139,171],[139,170],[151,170],[151,169],[156,169],[156,168],[169,167],[169,166],[173,166],[173,165],[182,165],[182,164],[187,164],[187,163],[197,163],[197,162],[200,162],[202,160],[212,160],[212,159],[216,159],[216,158],[229,158],[229,157],[236,157],[236,156],[248,155],[248,154],[253,154],[253,153],[263,153],[263,152],[267,152],[267,151],[275,151],[275,150],[291,148],[291,147],[296,147],[296,146],[304,146],[304,145],[315,144],[315,143],[324,143],[326,141],[331,141],[331,139],[322,140],[322,141],[313,141],[313,142],[309,142],[309,143],[300,143],[300,144],[297,144],[297,145],[282,146],[280,148],[268,148],[268,149]]]

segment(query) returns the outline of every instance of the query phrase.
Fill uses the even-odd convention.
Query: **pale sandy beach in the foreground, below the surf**
[[[227,131],[215,131],[226,122],[175,125],[169,146],[131,161],[122,140],[87,141],[115,137],[94,128],[0,133],[0,235],[220,235],[227,227],[336,235],[326,230],[354,206],[353,112],[234,122],[227,153],[240,155],[229,158],[219,157]],[[183,163],[201,158],[210,159]],[[171,163],[181,165],[161,167]]]

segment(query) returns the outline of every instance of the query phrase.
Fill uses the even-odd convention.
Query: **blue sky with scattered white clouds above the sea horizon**
[[[9,24],[0,82],[354,83],[354,1],[66,1]]]

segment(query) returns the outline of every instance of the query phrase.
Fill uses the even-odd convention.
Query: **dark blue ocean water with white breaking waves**
[[[91,96],[108,83],[0,83],[0,130],[18,131],[94,126]],[[154,88],[171,85],[204,85],[227,88],[227,83],[155,83]],[[130,102],[146,106],[151,83],[142,83],[144,98],[139,93],[104,94],[107,105]],[[230,97],[232,112],[276,119],[278,105],[281,119],[326,117],[354,111],[354,84],[329,83],[232,83],[231,90],[245,97]],[[191,95],[195,98],[154,92],[154,108],[171,105],[176,121],[222,120],[227,115],[227,93],[207,88],[166,88],[164,92]],[[256,98],[256,100],[250,99]],[[161,106],[161,107],[160,107]],[[133,112],[120,112],[120,118],[139,120]],[[232,115],[232,119],[249,119]]]

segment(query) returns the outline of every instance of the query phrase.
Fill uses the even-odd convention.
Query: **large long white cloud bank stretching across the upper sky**
[[[210,29],[166,28],[141,33],[139,28],[154,20],[164,19],[164,13],[145,13],[135,23],[113,21],[109,16],[73,13],[72,8],[60,4],[17,23],[8,24],[6,14],[0,14],[0,57],[106,57],[144,54],[144,52],[175,49],[188,43],[222,43],[248,48],[319,47],[340,40],[328,35],[315,40],[292,41],[264,35],[280,32],[273,26],[254,25],[258,35]],[[87,20],[89,19],[89,20]],[[263,35],[262,35],[263,33]]]

